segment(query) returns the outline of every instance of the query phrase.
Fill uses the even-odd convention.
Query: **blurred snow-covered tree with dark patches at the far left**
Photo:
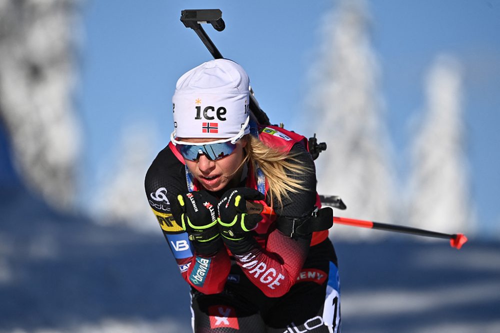
[[[79,154],[77,2],[0,1],[0,120],[21,177],[59,208],[73,204]]]

